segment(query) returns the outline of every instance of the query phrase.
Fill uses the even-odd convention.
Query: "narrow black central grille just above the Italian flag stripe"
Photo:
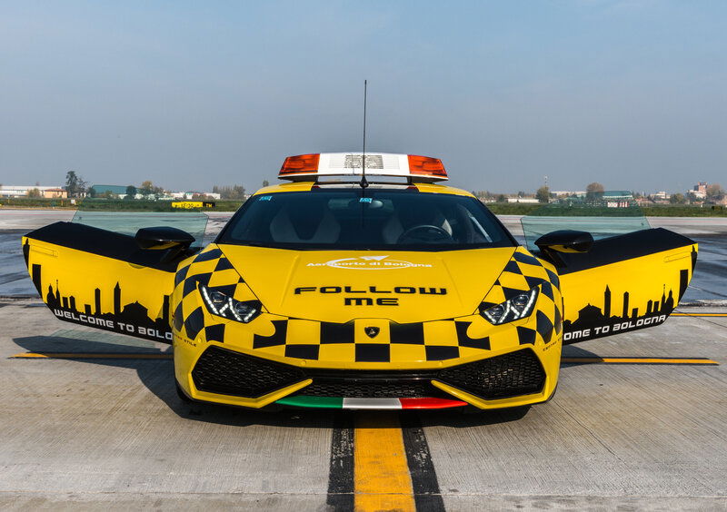
[[[298,394],[308,397],[348,399],[420,399],[440,395],[428,380],[314,379]]]

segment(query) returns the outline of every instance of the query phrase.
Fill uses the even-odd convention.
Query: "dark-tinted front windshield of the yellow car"
[[[255,195],[218,243],[281,249],[447,251],[512,247],[481,202],[416,190],[314,189]]]

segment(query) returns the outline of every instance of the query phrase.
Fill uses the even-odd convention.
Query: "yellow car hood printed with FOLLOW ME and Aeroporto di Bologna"
[[[515,251],[219,248],[269,312],[336,323],[360,318],[410,323],[471,315]]]

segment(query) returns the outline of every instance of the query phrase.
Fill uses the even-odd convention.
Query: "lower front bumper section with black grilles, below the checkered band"
[[[190,370],[177,368],[177,380],[192,399],[248,408],[498,409],[550,398],[560,358],[550,346],[547,354],[526,347],[443,369],[356,370],[297,367],[213,344]]]

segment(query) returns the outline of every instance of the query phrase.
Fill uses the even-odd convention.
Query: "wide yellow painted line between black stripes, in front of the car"
[[[402,426],[395,413],[366,413],[354,430],[354,510],[415,510]]]

